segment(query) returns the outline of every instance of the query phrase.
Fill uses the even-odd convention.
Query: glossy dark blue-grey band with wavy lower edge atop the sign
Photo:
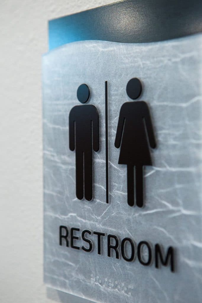
[[[126,0],[49,21],[49,49],[81,40],[155,42],[202,31],[202,0]]]

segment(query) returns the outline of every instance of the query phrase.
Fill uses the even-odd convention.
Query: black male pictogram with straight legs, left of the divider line
[[[86,103],[88,85],[81,84],[77,98]],[[77,105],[69,114],[69,148],[76,150],[76,196],[79,200],[93,198],[93,154],[99,150],[99,113],[94,105]]]

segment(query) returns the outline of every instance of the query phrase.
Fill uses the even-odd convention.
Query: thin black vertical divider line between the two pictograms
[[[107,86],[107,81],[105,81],[105,154],[106,154],[106,203],[109,203],[108,86]]]

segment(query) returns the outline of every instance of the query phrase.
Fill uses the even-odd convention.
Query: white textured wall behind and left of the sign
[[[41,55],[49,19],[112,2],[1,1],[1,303],[80,302],[43,285]]]

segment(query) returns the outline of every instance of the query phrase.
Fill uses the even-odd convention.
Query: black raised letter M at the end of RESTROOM
[[[166,257],[164,258],[164,253],[161,251],[161,246],[159,244],[155,245],[155,267],[159,268],[159,259],[161,261],[161,264],[164,266],[167,266],[169,264],[171,265],[171,271],[174,272],[174,248],[170,246],[167,250]]]

